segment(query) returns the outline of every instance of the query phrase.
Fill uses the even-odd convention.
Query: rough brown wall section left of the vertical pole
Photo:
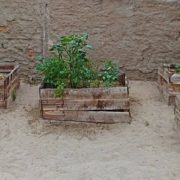
[[[41,3],[0,0],[0,12],[0,62],[20,64],[21,75],[29,77],[42,51]]]

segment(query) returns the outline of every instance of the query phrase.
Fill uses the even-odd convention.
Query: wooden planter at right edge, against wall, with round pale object
[[[180,74],[170,65],[158,69],[158,87],[168,105],[175,105],[175,99],[180,94]]]

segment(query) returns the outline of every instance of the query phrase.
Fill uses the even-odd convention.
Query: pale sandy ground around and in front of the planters
[[[38,87],[0,111],[0,180],[179,180],[180,134],[153,82],[131,82],[131,124],[44,124]],[[180,131],[180,129],[179,129]]]

